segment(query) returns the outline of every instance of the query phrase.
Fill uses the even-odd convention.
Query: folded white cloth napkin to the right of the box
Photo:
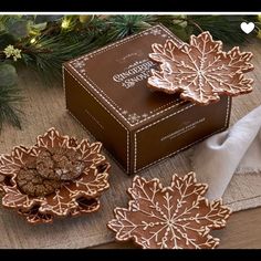
[[[209,199],[221,198],[233,175],[261,171],[261,106],[196,146],[191,159]]]

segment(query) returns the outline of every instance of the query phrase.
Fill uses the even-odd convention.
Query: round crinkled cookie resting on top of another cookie
[[[36,169],[41,177],[53,180],[72,180],[84,170],[81,154],[72,148],[50,148],[39,154]]]

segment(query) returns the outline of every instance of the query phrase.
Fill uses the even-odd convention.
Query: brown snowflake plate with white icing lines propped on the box
[[[152,70],[148,87],[165,93],[180,93],[180,97],[197,104],[218,102],[220,95],[237,96],[252,91],[253,80],[243,73],[253,70],[252,53],[234,46],[222,51],[222,42],[213,41],[209,32],[190,36],[190,44],[179,45],[167,40],[153,44],[149,58],[160,63],[160,71]]]

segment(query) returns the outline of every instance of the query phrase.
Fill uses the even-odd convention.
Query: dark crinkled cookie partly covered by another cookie
[[[33,197],[50,195],[61,187],[61,182],[58,180],[41,177],[35,163],[28,163],[20,169],[17,184],[22,192]]]

